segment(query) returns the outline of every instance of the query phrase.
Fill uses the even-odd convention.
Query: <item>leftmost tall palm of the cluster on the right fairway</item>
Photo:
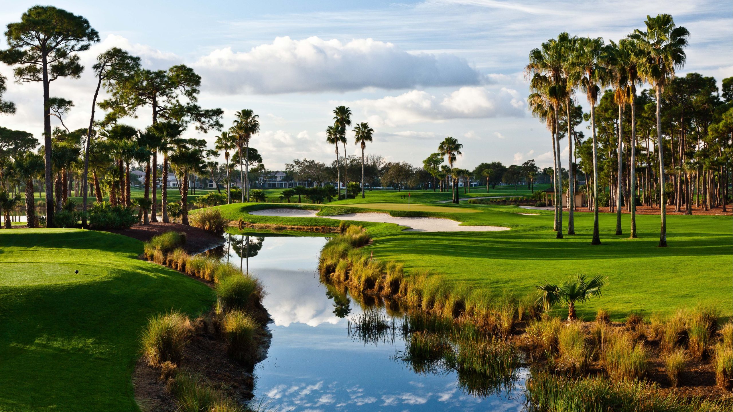
[[[559,121],[559,110],[562,104],[567,100],[567,63],[570,61],[572,53],[572,43],[574,40],[567,33],[559,34],[557,39],[550,39],[539,48],[534,48],[529,52],[529,63],[525,67],[525,73],[532,75],[531,89],[546,89],[548,100],[552,104],[555,114],[555,122]],[[570,124],[570,122],[568,122]],[[556,127],[557,130],[557,127]],[[572,139],[568,136],[568,139]],[[560,161],[559,139],[555,139],[553,149],[556,152],[556,207],[559,205],[557,213],[557,238],[562,238],[562,166]],[[570,152],[572,156],[572,151]],[[572,165],[571,165],[572,166]],[[571,185],[572,185],[572,167],[569,168]],[[570,191],[572,194],[572,191]],[[572,199],[572,196],[571,196]],[[570,206],[570,204],[568,205]],[[572,210],[572,209],[571,209]]]

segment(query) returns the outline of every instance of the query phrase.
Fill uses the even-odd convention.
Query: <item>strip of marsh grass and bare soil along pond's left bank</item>
[[[247,411],[254,365],[271,339],[262,285],[234,265],[189,255],[184,244],[185,235],[165,232],[145,243],[144,257],[213,287],[217,301],[195,319],[177,312],[150,318],[134,373],[136,397],[151,410]]]

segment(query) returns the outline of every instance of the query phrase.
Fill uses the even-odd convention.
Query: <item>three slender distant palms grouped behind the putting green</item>
[[[341,197],[341,166],[339,163],[339,143],[344,146],[344,199],[349,196],[348,155],[346,153],[346,128],[351,125],[351,110],[346,106],[334,108],[334,125],[325,129],[326,141],[336,147],[336,181],[338,183],[339,198]],[[361,122],[353,129],[354,144],[361,146],[361,198],[364,199],[364,150],[367,148],[367,141],[371,142],[374,137],[374,129],[369,123]]]

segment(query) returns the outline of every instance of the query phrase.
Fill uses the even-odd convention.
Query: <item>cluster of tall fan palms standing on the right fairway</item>
[[[634,30],[627,38],[618,43],[611,41],[605,44],[603,38],[570,37],[561,33],[556,39],[550,39],[539,48],[529,53],[529,63],[526,73],[531,76],[531,94],[528,104],[536,117],[546,122],[552,136],[553,158],[556,177],[555,184],[555,229],[557,238],[562,238],[561,196],[566,192],[562,189],[561,158],[559,124],[561,118],[566,119],[567,136],[573,136],[571,130],[571,109],[574,107],[572,97],[575,89],[581,89],[586,94],[590,109],[590,122],[593,141],[593,196],[598,199],[598,167],[595,106],[601,91],[605,87],[614,89],[614,98],[619,106],[619,122],[622,122],[622,112],[625,106],[636,98],[636,87],[644,82],[651,84],[655,89],[657,103],[658,158],[660,167],[660,240],[659,246],[666,246],[666,202],[664,199],[664,161],[663,135],[661,128],[660,101],[663,88],[674,78],[675,70],[685,63],[685,46],[688,44],[689,32],[685,27],[676,26],[671,15],[647,16],[646,30]],[[633,104],[631,107],[633,108]],[[631,165],[630,174],[634,176],[633,165],[636,156],[636,122],[635,113],[631,114]],[[618,178],[619,188],[622,179],[622,127],[619,127],[618,144]],[[564,131],[564,130],[562,130]],[[572,140],[568,140],[570,163],[572,164]],[[568,199],[568,226],[567,234],[575,234],[573,211],[575,209],[575,187],[573,182],[573,168],[568,168],[567,189]],[[632,178],[630,192],[634,193],[634,179]],[[621,190],[618,191],[618,204],[621,204]],[[594,224],[592,244],[600,244],[598,229],[598,202],[593,202]],[[622,234],[621,210],[616,211],[616,235]],[[636,238],[636,214],[634,202],[630,202],[631,228],[630,237]]]

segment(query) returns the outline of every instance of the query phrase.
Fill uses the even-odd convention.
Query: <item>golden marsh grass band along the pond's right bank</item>
[[[714,307],[699,306],[648,322],[630,314],[624,323],[612,323],[608,312],[600,312],[593,322],[564,323],[543,313],[533,295],[449,289],[440,275],[427,271],[407,277],[399,263],[380,262],[359,249],[368,242],[361,228],[348,227],[323,247],[320,274],[324,282],[348,290],[367,306],[408,314],[397,330],[410,334],[402,358],[416,372],[460,372],[456,357],[476,358],[476,348],[471,349],[475,345],[488,345],[483,350],[493,355],[479,356],[483,360],[477,365],[491,367],[501,358],[497,345],[508,345],[524,353],[526,367],[533,371],[526,389],[533,410],[554,411],[561,398],[566,399],[561,396],[566,389],[592,391],[588,399],[598,391],[613,394],[614,402],[629,397],[629,405],[652,411],[723,411],[733,405],[733,357],[726,349],[733,339],[733,323],[721,325]],[[358,326],[358,335],[367,340],[378,339],[380,330],[395,329],[378,319],[362,319]],[[509,349],[499,353],[505,350]],[[680,350],[687,363],[673,370],[668,354]],[[483,380],[503,381],[500,369],[484,370]],[[504,372],[512,375],[516,366],[508,369]],[[630,383],[618,383],[627,380]],[[500,386],[484,391],[490,394]],[[468,393],[482,393],[476,386],[463,387]],[[550,387],[565,389],[550,394]]]

